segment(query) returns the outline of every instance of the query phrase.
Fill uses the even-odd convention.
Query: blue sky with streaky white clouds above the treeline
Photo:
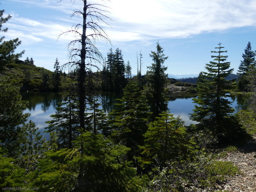
[[[12,18],[5,40],[19,38],[21,45],[16,52],[25,50],[26,57],[38,67],[53,69],[58,58],[60,65],[68,62],[68,48],[74,40],[72,34],[61,35],[82,18],[70,15],[83,7],[81,0],[0,0],[0,9]],[[228,62],[237,72],[242,53],[250,41],[256,50],[256,0],[111,0],[101,3],[110,19],[102,24],[111,44],[99,40],[97,48],[107,57],[110,48],[122,50],[124,62],[130,61],[132,74],[137,74],[137,53],[142,54],[142,74],[151,66],[151,51],[156,43],[168,56],[166,73],[199,74],[205,64],[212,61],[211,51],[225,47]],[[136,53],[137,52],[137,53]],[[102,66],[99,66],[102,68]],[[66,69],[67,71],[67,69]]]

